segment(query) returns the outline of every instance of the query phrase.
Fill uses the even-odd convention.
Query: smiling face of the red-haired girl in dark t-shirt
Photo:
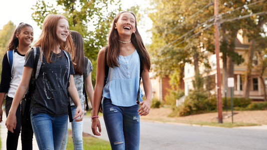
[[[69,36],[69,22],[65,18],[61,18],[57,25],[57,36],[60,41],[65,42]]]

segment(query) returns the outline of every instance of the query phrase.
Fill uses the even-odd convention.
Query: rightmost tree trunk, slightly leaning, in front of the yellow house
[[[245,80],[244,80],[244,90],[243,90],[243,97],[248,98],[249,97],[249,90],[251,86],[251,69],[252,69],[252,60],[254,56],[255,51],[255,40],[252,39],[250,41],[250,46],[248,48],[248,62],[246,67],[246,73],[245,73]]]

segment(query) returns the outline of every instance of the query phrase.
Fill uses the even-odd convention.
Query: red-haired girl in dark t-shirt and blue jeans
[[[68,121],[69,96],[77,106],[74,119],[83,120],[84,112],[74,84],[74,45],[65,16],[46,16],[39,39],[26,54],[22,81],[14,96],[6,125],[16,128],[16,108],[32,77],[36,50],[40,48],[35,90],[31,101],[31,122],[39,149],[60,149]],[[78,118],[80,117],[80,118]]]

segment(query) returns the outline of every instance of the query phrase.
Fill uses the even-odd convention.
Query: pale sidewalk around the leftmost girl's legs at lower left
[[[6,116],[6,112],[3,111],[3,121],[0,123],[0,133],[1,133],[1,141],[2,141],[2,147],[1,150],[5,150],[7,149],[7,135],[8,135],[8,129],[5,125],[7,120],[7,116]],[[18,148],[17,149],[22,149],[22,140],[21,140],[21,136],[19,137],[19,142],[18,142]],[[36,138],[34,135],[34,139],[33,139],[33,149],[39,149],[37,142],[36,142]]]

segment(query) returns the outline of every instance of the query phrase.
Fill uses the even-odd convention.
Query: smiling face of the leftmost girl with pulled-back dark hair
[[[20,33],[16,33],[16,36],[20,44],[30,45],[34,40],[34,30],[31,26],[25,26]]]

